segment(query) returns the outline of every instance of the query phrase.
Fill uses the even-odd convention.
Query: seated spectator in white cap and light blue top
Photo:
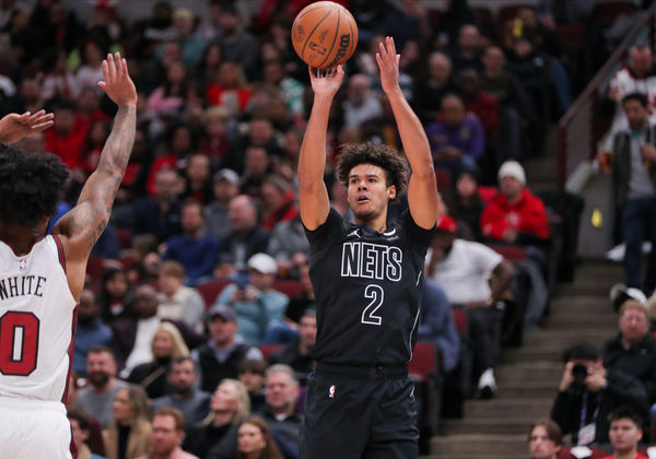
[[[227,285],[214,303],[234,308],[238,334],[248,344],[261,343],[269,323],[282,319],[289,298],[271,289],[277,273],[272,257],[256,254],[248,259],[248,280]]]

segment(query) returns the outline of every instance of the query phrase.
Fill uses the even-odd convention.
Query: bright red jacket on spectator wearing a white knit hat
[[[501,239],[506,228],[548,238],[549,223],[542,200],[526,188],[514,204],[508,203],[505,195],[497,193],[483,209],[481,232],[485,237]]]

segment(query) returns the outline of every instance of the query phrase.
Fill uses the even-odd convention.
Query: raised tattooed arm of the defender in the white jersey
[[[82,294],[89,255],[107,225],[134,142],[137,91],[126,60],[118,52],[107,55],[103,61],[103,75],[98,85],[118,105],[114,127],[98,166],[82,188],[78,204],[52,229],[63,244],[67,276],[75,299]]]

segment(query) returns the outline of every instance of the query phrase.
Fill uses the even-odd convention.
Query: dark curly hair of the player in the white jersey
[[[31,227],[54,215],[68,176],[54,154],[0,143],[0,222]]]

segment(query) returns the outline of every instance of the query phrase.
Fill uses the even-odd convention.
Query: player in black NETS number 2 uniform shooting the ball
[[[403,189],[400,153],[370,143],[345,148],[338,176],[355,224],[330,209],[324,184],[326,130],[341,67],[311,69],[315,94],[301,156],[301,217],[311,244],[317,306],[316,372],[308,378],[301,457],[414,458],[417,411],[408,362],[417,340],[423,263],[437,219],[437,188],[424,130],[398,84],[394,39],[379,45],[380,83],[410,162],[409,210],[388,221]]]

